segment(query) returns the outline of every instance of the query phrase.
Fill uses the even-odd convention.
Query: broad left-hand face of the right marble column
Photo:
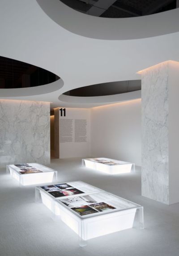
[[[169,204],[169,63],[142,72],[142,195]]]

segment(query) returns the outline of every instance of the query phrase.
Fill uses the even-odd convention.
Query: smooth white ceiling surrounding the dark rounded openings
[[[140,75],[136,74],[139,70],[166,60],[179,61],[179,9],[146,17],[108,19],[79,13],[59,0],[38,2],[0,1],[0,55],[45,68],[60,76],[62,80],[51,85],[38,86],[39,88],[0,89],[1,99],[42,100],[50,101],[51,107],[83,108],[136,99],[140,97],[140,92],[134,92],[133,95],[115,95],[114,99],[113,96],[100,96],[86,101],[81,97],[74,99],[60,95],[81,86],[140,79]],[[43,3],[45,7],[42,6]],[[53,13],[55,18],[50,18],[49,15]],[[75,33],[77,17],[81,25]],[[87,22],[89,18],[90,22]],[[138,19],[141,19],[141,22]],[[102,20],[105,21],[103,29]],[[108,21],[109,27],[106,26]],[[130,37],[128,40],[122,38],[122,32],[120,35],[119,28],[121,26],[121,31],[125,31],[125,22],[128,38]],[[139,23],[139,27],[135,26]],[[169,31],[170,27],[172,33]],[[98,35],[96,38],[95,35],[92,36],[93,28],[95,35]],[[157,29],[159,36],[156,36]],[[89,37],[87,31],[90,31]],[[119,35],[112,36],[115,33]],[[108,34],[114,40],[110,40]],[[126,35],[124,33],[124,36]],[[100,36],[103,39],[99,39]]]

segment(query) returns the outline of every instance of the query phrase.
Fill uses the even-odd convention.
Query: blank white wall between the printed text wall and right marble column
[[[141,166],[141,99],[91,108],[91,156]]]

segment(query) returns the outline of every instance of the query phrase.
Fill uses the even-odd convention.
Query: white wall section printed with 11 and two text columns
[[[60,158],[90,156],[90,109],[65,108],[60,121]]]

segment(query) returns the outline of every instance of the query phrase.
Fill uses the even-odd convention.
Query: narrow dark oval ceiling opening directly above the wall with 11
[[[127,93],[141,90],[141,80],[119,81],[89,85],[65,92],[64,95],[76,97],[94,97]]]

